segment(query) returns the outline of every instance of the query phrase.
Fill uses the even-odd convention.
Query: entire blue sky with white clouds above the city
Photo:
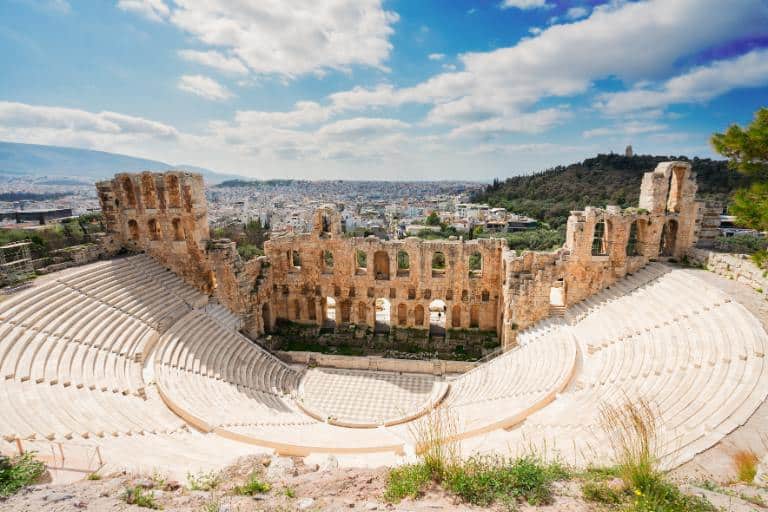
[[[0,140],[258,178],[489,180],[713,156],[768,2],[4,0]]]

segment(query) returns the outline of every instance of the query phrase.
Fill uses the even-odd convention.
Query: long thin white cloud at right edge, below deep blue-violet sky
[[[603,94],[597,107],[607,114],[661,109],[676,103],[707,101],[730,90],[768,84],[768,49],[753,50],[711,62],[664,82],[658,88],[635,88]]]

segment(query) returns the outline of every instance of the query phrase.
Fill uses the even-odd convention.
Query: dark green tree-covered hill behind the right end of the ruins
[[[616,204],[637,206],[643,173],[659,162],[691,162],[697,173],[697,198],[727,203],[734,190],[749,178],[728,168],[726,161],[683,156],[600,154],[580,163],[558,166],[543,172],[494,180],[472,198],[542,220],[556,228],[565,224],[571,210],[585,206]]]

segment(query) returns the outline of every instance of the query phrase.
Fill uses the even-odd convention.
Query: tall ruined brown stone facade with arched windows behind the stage
[[[690,164],[664,162],[645,174],[637,208],[571,212],[553,252],[517,253],[500,239],[352,238],[328,206],[310,233],[269,240],[265,257],[243,262],[233,242],[209,239],[200,175],[118,174],[97,187],[109,243],[146,251],[213,295],[253,338],[286,320],[442,339],[491,331],[506,347],[649,261],[681,258],[702,208]]]

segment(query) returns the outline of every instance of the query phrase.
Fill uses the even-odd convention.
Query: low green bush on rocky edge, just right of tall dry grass
[[[552,501],[552,482],[568,478],[560,464],[546,464],[535,456],[517,459],[473,457],[451,468],[448,489],[469,503],[488,506],[506,497],[531,505]]]

